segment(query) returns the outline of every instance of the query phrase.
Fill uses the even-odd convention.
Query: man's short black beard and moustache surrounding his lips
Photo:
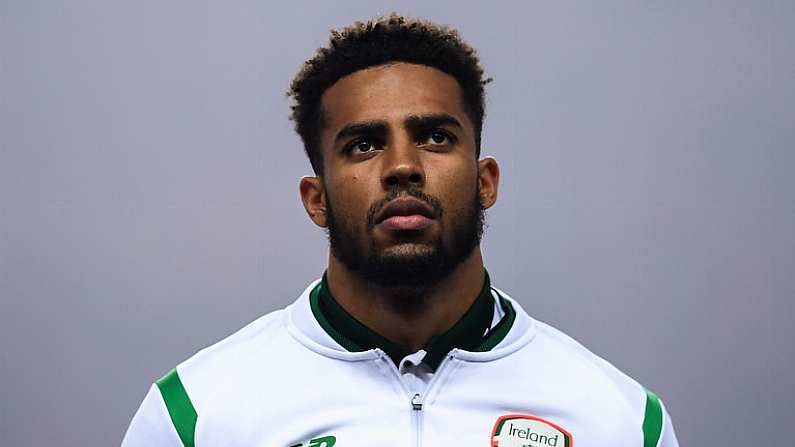
[[[375,215],[389,201],[401,196],[411,196],[429,204],[436,219],[441,221],[445,210],[438,199],[418,189],[395,189],[384,199],[374,203],[367,215],[367,232],[357,235],[353,226],[338,220],[333,204],[326,196],[326,219],[331,254],[351,272],[365,281],[390,289],[406,292],[433,288],[447,278],[458,265],[464,262],[483,236],[485,221],[479,185],[470,206],[460,219],[452,222],[449,246],[442,235],[431,242],[429,249],[413,253],[383,253],[375,247],[372,234]],[[444,228],[442,230],[445,230]],[[444,231],[442,231],[444,234]]]

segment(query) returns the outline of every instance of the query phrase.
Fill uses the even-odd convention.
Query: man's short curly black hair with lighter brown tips
[[[359,70],[391,62],[427,65],[454,77],[464,96],[466,113],[475,128],[480,155],[480,134],[485,114],[484,78],[477,52],[461,40],[456,30],[397,14],[356,22],[332,30],[329,44],[304,63],[290,84],[293,98],[290,119],[304,143],[316,174],[323,172],[319,137],[324,123],[321,96],[340,78]]]

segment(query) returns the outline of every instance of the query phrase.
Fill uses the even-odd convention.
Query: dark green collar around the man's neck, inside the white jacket
[[[423,346],[422,349],[427,353],[423,362],[431,370],[435,371],[444,356],[453,348],[466,351],[489,351],[502,341],[513,325],[516,314],[510,303],[500,297],[505,316],[484,335],[494,317],[494,300],[491,290],[489,274],[486,273],[480,294],[461,319],[447,332],[431,337]],[[323,280],[310,293],[309,300],[312,313],[320,326],[348,351],[359,352],[380,348],[395,365],[399,365],[404,357],[412,353],[405,346],[377,334],[343,309],[331,295],[325,273]]]

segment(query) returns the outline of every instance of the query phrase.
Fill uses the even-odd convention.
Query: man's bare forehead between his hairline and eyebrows
[[[455,78],[426,65],[393,63],[341,78],[321,97],[325,133],[352,122],[403,122],[411,115],[447,113],[471,128],[461,86]]]

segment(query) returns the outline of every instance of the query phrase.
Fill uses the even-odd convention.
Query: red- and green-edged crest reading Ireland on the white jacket
[[[572,447],[562,427],[527,414],[500,416],[491,431],[491,447]]]

